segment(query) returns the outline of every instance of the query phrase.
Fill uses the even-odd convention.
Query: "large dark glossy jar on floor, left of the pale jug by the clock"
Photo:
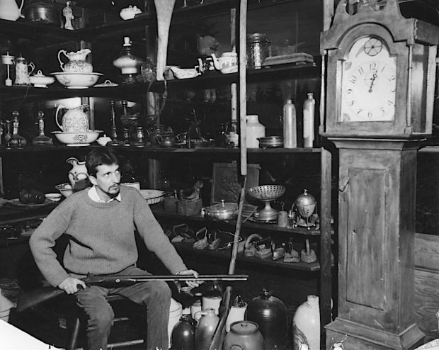
[[[282,300],[263,289],[261,296],[253,298],[247,307],[246,320],[256,322],[265,339],[265,350],[285,349],[287,343],[287,307]]]

